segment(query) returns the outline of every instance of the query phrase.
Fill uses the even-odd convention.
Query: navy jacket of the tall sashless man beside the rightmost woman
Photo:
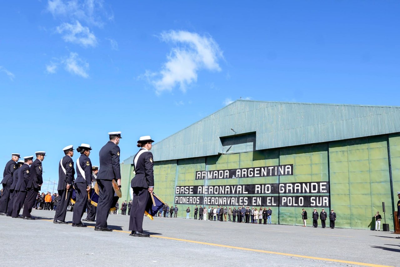
[[[120,147],[108,141],[99,152],[100,170],[97,180],[121,179]]]

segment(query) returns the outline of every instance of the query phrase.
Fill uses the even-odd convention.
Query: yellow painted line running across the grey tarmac
[[[46,221],[52,222],[52,220],[46,220]],[[94,226],[88,226],[88,227],[94,228]],[[130,234],[130,232],[128,232],[128,231],[122,231],[122,230],[112,230],[112,231],[113,232]],[[173,238],[173,237],[160,237],[160,236],[156,236],[156,235],[150,235],[150,237],[155,237],[155,238],[160,238],[160,239],[169,239],[169,240],[175,240],[175,241],[182,241],[182,242],[201,244],[201,245],[209,245],[209,246],[213,246],[213,247],[224,247],[224,248],[228,248],[228,249],[254,251],[254,252],[260,252],[260,253],[283,255],[283,256],[297,257],[297,258],[304,258],[304,259],[314,259],[314,260],[319,260],[319,261],[332,261],[332,262],[340,262],[340,263],[362,265],[362,266],[371,266],[371,267],[393,267],[393,266],[388,266],[388,265],[378,265],[378,264],[373,264],[373,263],[362,263],[362,262],[356,262],[356,261],[344,261],[344,260],[338,260],[338,259],[327,259],[327,258],[311,257],[311,256],[304,256],[304,255],[297,255],[297,254],[290,254],[290,253],[266,251],[266,250],[261,250],[261,249],[248,249],[248,248],[245,248],[245,247],[234,247],[234,246],[228,246],[228,245],[206,243],[206,242],[200,242],[200,241],[194,241],[194,240],[188,240],[188,239],[179,239],[179,238]]]

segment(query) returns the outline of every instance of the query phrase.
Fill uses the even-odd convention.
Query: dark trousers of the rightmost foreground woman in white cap
[[[132,187],[133,199],[132,199],[132,211],[129,217],[129,231],[143,232],[143,218],[146,205],[149,200],[150,194],[148,188],[144,187]]]

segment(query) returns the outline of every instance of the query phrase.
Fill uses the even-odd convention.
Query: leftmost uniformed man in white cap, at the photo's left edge
[[[0,200],[0,215],[6,215],[8,202],[10,201],[10,187],[13,182],[12,174],[17,169],[17,162],[20,158],[20,154],[12,153],[11,160],[6,163],[3,172],[3,180],[1,181],[3,185],[3,192]]]

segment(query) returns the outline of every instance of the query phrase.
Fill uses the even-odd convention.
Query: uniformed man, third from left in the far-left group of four
[[[30,165],[33,162],[33,156],[24,157],[24,165],[18,169],[18,182],[15,186],[16,197],[14,205],[12,206],[12,218],[22,218],[20,217],[20,210],[24,204],[26,198],[26,185],[30,180]]]

